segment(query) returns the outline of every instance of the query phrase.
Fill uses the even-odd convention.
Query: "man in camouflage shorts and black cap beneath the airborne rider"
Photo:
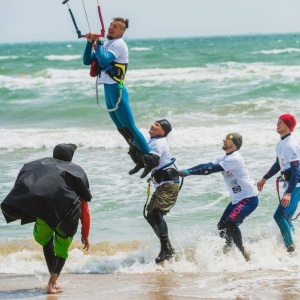
[[[175,205],[179,193],[178,170],[166,138],[171,130],[172,126],[166,119],[154,122],[149,130],[149,154],[143,154],[141,151],[132,153],[142,161],[145,169],[151,171],[149,180],[154,182],[155,191],[146,207],[147,214],[144,213],[144,216],[160,240],[161,249],[155,259],[156,263],[172,258],[175,253],[164,219],[164,216]]]

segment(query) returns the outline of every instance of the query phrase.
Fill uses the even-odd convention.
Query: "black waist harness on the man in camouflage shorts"
[[[172,158],[171,161],[169,163],[167,163],[166,165],[162,166],[161,168],[155,170],[154,172],[151,173],[151,177],[147,179],[148,182],[148,186],[147,186],[147,200],[145,202],[144,205],[144,209],[143,209],[143,215],[144,218],[147,219],[146,217],[146,207],[148,204],[148,200],[150,198],[150,189],[151,189],[151,183],[160,183],[163,181],[172,181],[174,183],[179,183],[179,172],[178,169],[176,167],[176,165],[174,164],[176,161],[176,158]],[[183,185],[183,176],[181,177],[181,183],[179,186],[179,191],[182,188]]]

